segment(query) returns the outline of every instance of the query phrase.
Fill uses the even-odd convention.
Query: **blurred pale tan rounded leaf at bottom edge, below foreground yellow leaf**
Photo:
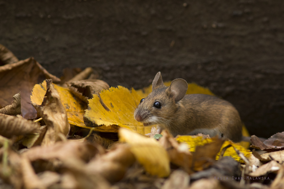
[[[162,189],[185,189],[189,186],[189,175],[182,170],[174,171],[164,183]]]

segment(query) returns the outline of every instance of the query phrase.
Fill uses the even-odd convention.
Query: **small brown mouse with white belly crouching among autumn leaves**
[[[212,95],[185,95],[187,88],[181,78],[166,87],[158,72],[152,82],[153,91],[135,109],[135,120],[144,126],[158,124],[173,136],[203,133],[241,141],[241,118],[231,103]]]

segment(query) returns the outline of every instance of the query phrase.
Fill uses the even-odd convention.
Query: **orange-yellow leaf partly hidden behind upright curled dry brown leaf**
[[[85,127],[83,122],[83,115],[85,113],[85,107],[83,101],[74,97],[68,88],[60,87],[54,84],[54,88],[60,95],[60,100],[63,107],[66,109],[68,122],[70,124]],[[46,93],[46,82],[36,84],[33,88],[31,101],[37,105],[41,105],[43,97]]]

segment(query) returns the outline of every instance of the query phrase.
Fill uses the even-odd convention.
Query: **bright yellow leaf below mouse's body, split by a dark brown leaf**
[[[183,135],[183,136],[177,136],[176,140],[179,143],[185,142],[189,145],[189,151],[191,152],[195,152],[195,148],[196,146],[203,146],[207,143],[211,143],[213,141],[215,141],[216,139],[211,138],[211,139],[203,139],[201,136],[187,136],[187,135]],[[252,153],[250,150],[244,148],[243,146],[237,144],[237,143],[233,143],[232,141],[225,141],[220,149],[220,152],[222,151],[222,149],[228,145],[232,145],[231,147],[227,148],[227,150],[225,151],[223,156],[231,156],[232,158],[234,158],[235,160],[237,160],[238,162],[243,162],[243,160],[238,156],[238,154],[236,153],[236,151],[234,150],[233,146],[238,149],[240,152],[242,152],[247,158],[250,156],[250,154]],[[216,160],[219,159],[219,155],[220,152],[217,154],[216,156]]]

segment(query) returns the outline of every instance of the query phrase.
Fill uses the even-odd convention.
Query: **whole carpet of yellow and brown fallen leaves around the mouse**
[[[0,63],[1,188],[284,186],[283,132],[264,142],[253,135],[252,151],[202,133],[160,135],[132,114],[151,86],[109,88],[92,68],[65,69],[60,80],[1,45]],[[214,95],[189,84],[193,93]]]

